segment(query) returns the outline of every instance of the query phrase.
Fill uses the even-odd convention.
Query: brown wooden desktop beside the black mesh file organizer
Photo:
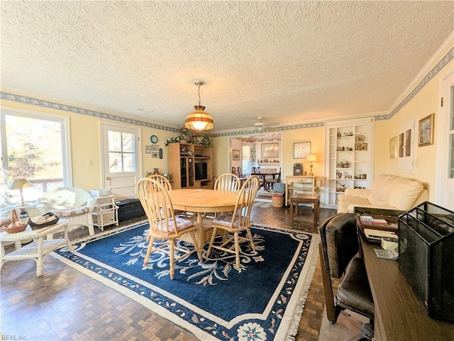
[[[374,249],[380,245],[359,234],[375,304],[374,340],[454,340],[454,324],[428,317],[399,270],[399,262],[377,258]]]

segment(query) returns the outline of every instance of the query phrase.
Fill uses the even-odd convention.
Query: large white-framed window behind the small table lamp
[[[18,177],[34,185],[23,190],[26,201],[37,199],[43,191],[72,185],[67,117],[2,108],[0,120],[2,194]],[[20,199],[7,196],[5,200],[14,204]]]

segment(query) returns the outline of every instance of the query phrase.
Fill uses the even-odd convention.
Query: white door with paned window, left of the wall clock
[[[101,123],[101,158],[104,189],[115,199],[135,198],[140,172],[140,130]]]

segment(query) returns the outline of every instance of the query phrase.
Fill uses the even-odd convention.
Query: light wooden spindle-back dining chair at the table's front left
[[[143,266],[147,265],[151,253],[161,250],[169,255],[170,279],[174,279],[175,261],[179,262],[197,252],[199,260],[202,262],[201,249],[194,233],[197,227],[192,220],[175,217],[169,191],[165,189],[165,186],[162,186],[157,179],[143,178],[138,181],[137,194],[150,223],[147,235],[149,244]],[[187,233],[192,237],[194,250],[188,251],[175,247],[175,241]],[[155,240],[165,240],[166,242],[159,247],[154,247]]]

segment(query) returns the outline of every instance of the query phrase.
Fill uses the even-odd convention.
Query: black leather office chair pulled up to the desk
[[[319,226],[319,245],[326,315],[336,323],[339,313],[349,309],[370,319],[362,326],[362,335],[371,340],[374,325],[374,301],[362,258],[353,213],[338,213]],[[331,277],[340,279],[336,297]]]

